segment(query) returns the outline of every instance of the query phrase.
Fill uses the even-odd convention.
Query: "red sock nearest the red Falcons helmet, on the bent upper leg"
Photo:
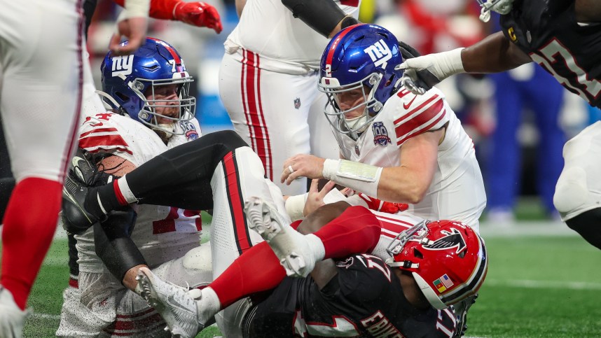
[[[322,239],[327,258],[343,258],[353,253],[371,253],[380,240],[382,225],[362,206],[352,206],[315,232]]]

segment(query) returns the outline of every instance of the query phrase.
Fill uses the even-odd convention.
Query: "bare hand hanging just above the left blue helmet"
[[[111,36],[109,49],[113,55],[127,55],[135,52],[144,43],[148,18],[130,17],[117,23],[117,33]],[[121,36],[127,38],[127,44],[121,44]]]

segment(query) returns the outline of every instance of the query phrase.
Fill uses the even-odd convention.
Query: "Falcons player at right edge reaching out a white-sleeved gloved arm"
[[[415,71],[431,73],[429,85],[455,73],[495,73],[537,62],[567,90],[601,108],[601,3],[593,0],[478,0],[481,20],[501,14],[502,31],[468,48],[408,59],[406,87],[422,94]],[[601,156],[601,122],[583,129],[563,148],[565,166],[553,203],[562,220],[590,244],[601,248],[601,193],[597,159]]]

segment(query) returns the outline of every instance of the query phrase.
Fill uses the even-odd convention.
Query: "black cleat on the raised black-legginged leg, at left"
[[[64,230],[72,234],[81,234],[102,220],[85,209],[85,198],[93,187],[105,185],[112,178],[111,175],[99,171],[88,157],[83,150],[77,150],[62,187],[63,226]]]

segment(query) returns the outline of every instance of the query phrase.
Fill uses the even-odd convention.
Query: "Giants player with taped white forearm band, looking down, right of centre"
[[[459,220],[478,232],[486,195],[474,143],[440,90],[416,95],[401,87],[403,71],[394,69],[400,48],[417,53],[374,24],[332,38],[322,55],[319,89],[329,98],[324,113],[342,159],[295,155],[284,162],[281,181],[327,178],[368,198],[409,204],[415,216]],[[286,208],[303,210],[290,206],[303,201],[291,197]],[[350,203],[365,205],[360,195]],[[464,311],[457,313],[463,322]]]

